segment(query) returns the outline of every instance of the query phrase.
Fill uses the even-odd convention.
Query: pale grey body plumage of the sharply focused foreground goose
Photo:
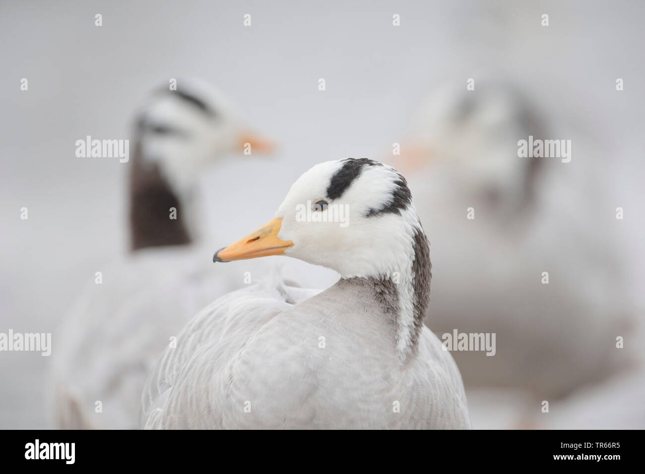
[[[459,370],[427,328],[401,367],[392,286],[341,280],[295,305],[279,286],[224,295],[184,328],[144,391],[145,428],[470,427]]]

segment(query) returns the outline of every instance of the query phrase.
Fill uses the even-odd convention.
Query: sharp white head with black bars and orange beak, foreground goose
[[[414,345],[430,301],[430,257],[404,177],[370,159],[317,164],[292,185],[275,218],[215,253],[230,262],[289,255],[342,279],[365,279],[397,293],[402,352]]]

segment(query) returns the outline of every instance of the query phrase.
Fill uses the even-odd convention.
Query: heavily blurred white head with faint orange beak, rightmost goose
[[[542,137],[530,103],[510,84],[446,86],[419,108],[397,166],[433,166],[463,197],[501,211],[530,202],[539,159],[517,155],[517,142]]]

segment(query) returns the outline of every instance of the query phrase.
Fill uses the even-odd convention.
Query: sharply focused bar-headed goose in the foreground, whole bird
[[[213,302],[164,351],[142,426],[470,427],[459,370],[422,324],[429,247],[402,175],[368,159],[317,164],[272,221],[213,261],[267,255],[341,279],[304,300],[268,281]]]

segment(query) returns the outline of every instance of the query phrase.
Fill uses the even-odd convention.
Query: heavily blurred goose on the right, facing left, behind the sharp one
[[[422,104],[397,161],[415,170],[410,188],[435,249],[428,324],[439,335],[496,333],[493,357],[453,352],[469,397],[526,390],[537,410],[624,365],[615,338],[630,315],[613,207],[590,177],[585,140],[568,137],[571,163],[518,157],[530,135],[564,138],[545,137],[544,125],[511,84],[447,86]]]

